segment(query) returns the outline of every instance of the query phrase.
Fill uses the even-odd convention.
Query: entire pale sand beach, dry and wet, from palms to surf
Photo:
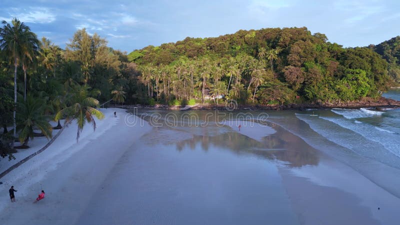
[[[375,173],[393,175],[375,183],[351,167],[373,165],[366,158],[342,154],[349,160],[343,163],[279,125],[228,120],[229,132],[164,127],[167,135],[157,135],[138,117],[126,124],[122,109],[101,110],[105,118],[94,132],[85,126],[76,142],[72,122],[45,151],[1,178],[0,224],[394,225],[400,219],[400,199],[382,185],[397,169],[379,167]],[[43,143],[37,138],[31,145]],[[45,198],[33,203],[41,189]]]

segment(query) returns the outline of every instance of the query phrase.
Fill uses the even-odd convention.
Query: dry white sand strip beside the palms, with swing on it
[[[74,223],[120,155],[150,129],[146,124],[125,125],[122,109],[101,110],[105,118],[96,120],[94,132],[86,125],[76,142],[77,126],[72,121],[46,150],[1,178],[1,193],[11,185],[17,192],[14,203],[7,194],[1,195],[0,224]],[[32,146],[36,140],[42,141],[34,139]],[[41,189],[46,197],[33,204]]]

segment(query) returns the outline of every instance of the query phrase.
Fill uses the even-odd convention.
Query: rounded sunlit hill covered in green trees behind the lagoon
[[[377,97],[392,82],[372,49],[343,48],[306,27],[186,37],[134,50],[128,60],[155,100],[200,98],[210,89],[247,103],[332,102]]]

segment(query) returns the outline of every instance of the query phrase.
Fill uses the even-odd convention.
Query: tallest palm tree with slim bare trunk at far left
[[[5,20],[1,23],[4,25],[0,28],[0,50],[5,51],[5,54],[14,63],[14,104],[16,105],[16,69],[23,56],[32,58],[33,51],[39,49],[39,41],[36,34],[30,31],[29,26],[26,26],[17,18],[12,19],[12,26]],[[16,133],[15,108],[13,111],[14,137]],[[14,141],[12,141],[11,147],[13,146]]]

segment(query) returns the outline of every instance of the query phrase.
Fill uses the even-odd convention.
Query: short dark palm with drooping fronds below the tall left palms
[[[42,98],[33,98],[31,95],[27,96],[26,101],[19,103],[16,128],[20,130],[18,138],[23,146],[27,147],[29,138],[33,139],[35,136],[34,129],[39,129],[45,137],[51,138],[52,128],[44,116],[46,107]]]

